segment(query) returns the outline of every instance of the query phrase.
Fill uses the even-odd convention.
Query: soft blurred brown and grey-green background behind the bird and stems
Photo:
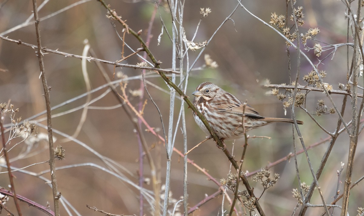
[[[43,1],[37,1],[40,5]],[[45,17],[65,8],[78,1],[50,0],[39,11],[39,17]],[[106,0],[107,4],[115,9],[123,20],[134,31],[142,30],[142,37],[146,40],[147,28],[154,11],[154,1],[134,1],[134,0]],[[245,7],[262,20],[269,23],[271,13],[276,12],[277,15],[286,13],[286,3],[282,0],[256,0],[242,1]],[[9,39],[21,40],[24,43],[37,44],[35,26],[29,24],[16,30],[9,30],[24,23],[28,17],[32,18],[32,1],[24,0],[2,0],[0,2],[0,35]],[[162,2],[160,7],[161,17],[164,20],[169,33],[171,33],[170,13],[167,11],[166,3]],[[195,42],[202,43],[209,40],[211,35],[216,31],[218,26],[226,19],[227,16],[236,7],[237,1],[185,1],[183,27],[186,31],[187,40],[191,40],[196,30],[197,24],[202,17],[199,13],[200,8],[210,8],[211,13],[202,19],[199,25]],[[305,13],[305,25],[300,28],[302,33],[309,28],[320,29],[317,39],[328,44],[346,43],[347,40],[347,19],[345,18],[345,5],[341,1],[297,1],[295,7],[302,6]],[[96,57],[108,61],[117,61],[121,59],[122,41],[119,39],[112,27],[112,24],[106,17],[107,10],[98,1],[84,1],[82,4],[71,7],[70,9],[52,16],[49,19],[40,22],[41,40],[43,47],[49,49],[82,55],[84,48],[83,41],[88,40],[91,49],[96,53]],[[116,30],[122,35],[122,26],[116,24]],[[166,34],[162,35],[161,44],[158,46],[157,39],[161,33],[161,20],[157,13],[152,28],[152,38],[149,48],[155,58],[162,62],[162,68],[171,68],[172,45]],[[126,43],[134,50],[140,47],[140,43],[131,35],[125,36]],[[313,46],[314,43],[309,41],[308,45]],[[322,44],[324,45],[324,44]],[[302,48],[302,47],[301,47]],[[124,48],[124,56],[132,52]],[[196,52],[189,51],[190,64],[197,57],[199,50]],[[209,54],[211,58],[219,65],[216,69],[203,69],[191,71],[188,88],[186,94],[193,98],[191,93],[198,84],[210,81],[226,91],[233,93],[235,96],[254,107],[262,116],[267,117],[285,117],[282,102],[276,96],[270,95],[271,89],[262,87],[259,83],[268,79],[272,84],[289,84],[288,74],[288,56],[284,39],[272,29],[250,16],[242,8],[238,8],[232,16],[232,20],[228,20],[222,28],[216,33],[214,38],[208,44],[202,56],[197,61],[195,68],[205,64],[203,55]],[[297,59],[294,49],[290,49],[290,62],[292,64],[292,77],[296,76]],[[318,63],[318,59],[323,59],[329,52],[323,53],[319,58],[314,55],[313,51],[306,53],[314,64]],[[122,63],[137,64],[142,60],[138,57],[131,57]],[[318,69],[326,71],[327,77],[324,82],[333,85],[337,90],[338,83],[346,83],[347,74],[347,49],[341,47],[335,52],[335,56],[329,56],[323,61]],[[44,65],[46,69],[46,77],[48,85],[51,89],[51,105],[55,106],[64,101],[79,96],[85,92],[86,85],[82,75],[81,60],[65,57],[50,53],[44,56]],[[186,65],[186,64],[185,64]],[[112,65],[102,64],[112,79],[114,72],[122,72],[128,77],[141,75],[140,70],[132,68],[114,68]],[[301,57],[300,81],[305,85],[302,77],[308,74],[312,68],[306,60]],[[92,89],[104,85],[104,81],[99,69],[94,62],[87,62],[87,71],[90,76]],[[30,119],[32,116],[45,110],[45,102],[43,96],[43,87],[39,79],[39,63],[35,55],[35,49],[18,45],[9,41],[0,41],[0,103],[11,103],[15,108],[19,108],[16,117],[22,117],[23,120],[39,121],[39,124],[46,125],[45,115]],[[115,77],[116,79],[116,77]],[[115,80],[114,79],[114,80]],[[151,83],[168,90],[164,81],[159,76],[146,77]],[[136,80],[128,81],[127,90],[139,89],[141,85],[140,77]],[[363,85],[363,80],[360,80]],[[164,124],[168,125],[169,115],[169,98],[170,95],[155,88],[153,85],[147,86],[155,103],[157,103],[163,116]],[[107,88],[92,93],[92,98],[100,96]],[[284,90],[280,90],[284,93]],[[361,93],[361,92],[360,92]],[[343,100],[342,95],[332,95],[341,108]],[[129,99],[134,106],[138,106],[139,97],[133,97],[130,93]],[[311,92],[306,99],[306,109],[311,113],[316,111],[318,100],[324,99],[328,107],[332,107],[329,100],[321,92]],[[151,127],[161,128],[161,121],[158,112],[147,97],[147,105],[144,109],[144,117]],[[143,100],[143,101],[144,101]],[[52,114],[69,111],[75,107],[83,105],[86,97],[77,99],[55,109]],[[180,100],[176,100],[176,116],[178,115]],[[344,119],[348,122],[351,120],[351,100],[347,102],[347,111]],[[135,129],[128,119],[126,113],[121,107],[117,106],[119,102],[112,93],[108,93],[102,99],[91,104],[88,109],[86,120],[82,126],[77,140],[83,142],[88,147],[94,149],[100,155],[108,157],[118,164],[122,165],[128,172],[123,172],[126,177],[138,184],[138,141]],[[205,134],[199,129],[192,116],[190,109],[186,108],[186,125],[188,147],[192,148],[197,143],[205,139]],[[290,116],[290,110],[287,110],[287,116]],[[75,112],[67,113],[59,117],[52,118],[52,126],[55,130],[73,135],[81,118],[82,109]],[[309,116],[302,110],[296,109],[298,120],[305,122],[300,125],[302,137],[306,146],[320,142],[328,137]],[[315,116],[318,122],[328,131],[334,132],[337,124],[337,115]],[[177,117],[176,117],[177,119]],[[174,121],[175,124],[176,121]],[[5,124],[9,124],[10,120],[5,116]],[[175,148],[183,150],[183,137],[181,132],[181,124],[177,128],[177,137]],[[142,127],[142,129],[146,129]],[[38,133],[46,133],[47,131],[41,127]],[[160,135],[163,133],[160,131]],[[8,136],[9,134],[5,134]],[[269,136],[272,139],[249,139],[243,169],[245,171],[256,171],[264,168],[270,162],[281,159],[293,152],[292,125],[290,124],[271,124],[263,128],[255,129],[249,132],[250,136]],[[65,139],[65,137],[54,133],[56,137],[55,146],[62,145],[66,152],[66,159],[56,161],[57,167],[65,165],[94,163],[104,166],[99,157],[84,148],[75,141]],[[151,133],[145,132],[148,145],[151,147],[151,153],[156,159],[156,163],[160,166],[161,182],[165,181],[166,156],[163,143]],[[21,138],[14,139],[9,146],[14,146],[20,142]],[[297,149],[302,146],[296,140]],[[226,142],[228,148],[232,148],[232,141]],[[244,139],[236,140],[234,155],[238,159],[241,157],[242,145]],[[29,148],[24,142],[16,145],[9,155],[14,159],[12,166],[21,168],[33,163],[47,161],[49,153],[46,141],[40,141],[37,146],[33,146],[28,156],[18,157],[20,153]],[[318,145],[314,149],[309,150],[309,157],[312,166],[316,172],[318,165],[326,151],[328,143]],[[349,137],[347,133],[340,135],[331,152],[331,156],[325,166],[324,172],[319,180],[321,189],[326,197],[327,203],[333,201],[337,187],[337,170],[340,169],[340,162],[346,163],[349,149]],[[363,145],[362,139],[359,138],[357,146],[356,160],[357,164],[353,171],[353,181],[356,181],[363,175]],[[32,153],[32,154],[31,154]],[[211,176],[219,181],[226,178],[229,172],[229,161],[223,152],[218,149],[214,141],[209,140],[189,153],[189,159],[196,164],[208,170]],[[158,161],[158,160],[159,161]],[[150,177],[150,169],[145,160],[144,175]],[[313,178],[307,164],[304,154],[297,157],[298,167],[300,169],[301,181],[311,184]],[[183,158],[177,154],[172,157],[172,181],[171,192],[174,199],[179,200],[183,195]],[[48,163],[34,165],[26,170],[33,173],[39,173],[49,169]],[[5,171],[3,168],[2,172]],[[296,207],[297,200],[292,196],[292,189],[298,188],[298,181],[294,159],[284,161],[273,168],[270,172],[278,173],[280,179],[273,188],[269,188],[260,200],[260,204],[269,215],[291,215]],[[340,181],[345,181],[345,171],[340,177]],[[15,172],[15,187],[17,194],[27,197],[41,205],[46,206],[47,202],[51,203],[53,209],[52,190],[43,180],[29,174]],[[61,169],[56,173],[58,179],[58,190],[62,196],[66,198],[81,215],[100,215],[86,208],[86,205],[95,206],[106,212],[113,214],[139,215],[139,192],[134,187],[121,181],[120,179],[92,167],[74,167]],[[50,174],[42,175],[50,179]],[[263,190],[259,182],[249,181],[254,187],[254,193],[260,194]],[[8,174],[0,175],[0,186],[9,189]],[[242,185],[241,185],[242,186]],[[144,187],[151,189],[151,185],[145,184]],[[241,187],[242,189],[242,187]],[[193,207],[206,195],[211,195],[218,190],[218,186],[207,179],[207,176],[199,172],[195,167],[188,167],[188,193],[189,207]],[[343,184],[340,184],[340,191],[343,191]],[[363,207],[363,184],[355,187],[355,191],[351,194],[351,202],[349,205],[349,213],[355,215],[357,207]],[[229,195],[233,197],[232,192]],[[194,215],[217,215],[221,212],[222,196],[209,201],[197,211]],[[317,191],[311,199],[312,204],[322,204]],[[341,200],[338,203],[341,205]],[[240,203],[239,203],[240,205]],[[15,212],[13,200],[7,203],[9,209]],[[27,204],[21,203],[21,209],[24,215],[42,215],[38,210],[28,207]],[[173,208],[172,208],[173,209]],[[225,205],[225,209],[229,209],[229,205]],[[181,208],[182,211],[182,208]],[[307,215],[317,215],[323,211],[322,208],[309,208]],[[145,204],[145,215],[151,215],[150,208]],[[336,214],[340,211],[335,210]],[[66,215],[65,209],[61,208],[62,215]],[[297,212],[296,212],[297,214]],[[45,215],[45,214],[44,214]]]

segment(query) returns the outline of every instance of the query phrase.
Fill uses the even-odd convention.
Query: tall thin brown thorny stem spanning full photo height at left
[[[33,0],[33,13],[34,13],[34,20],[35,20],[35,29],[37,34],[37,55],[39,60],[39,68],[40,68],[40,76],[43,84],[44,90],[44,99],[46,100],[46,108],[47,108],[47,127],[48,127],[48,141],[49,141],[49,165],[51,169],[51,183],[52,183],[52,191],[53,191],[53,201],[54,201],[54,213],[55,216],[60,216],[59,212],[59,198],[61,193],[58,192],[57,189],[57,179],[56,179],[56,166],[54,163],[54,147],[53,147],[53,135],[52,135],[52,114],[51,114],[51,101],[50,101],[50,94],[49,94],[49,87],[47,85],[46,80],[46,73],[44,70],[44,63],[43,63],[43,53],[41,49],[41,41],[40,41],[40,27],[39,27],[39,17],[37,11],[37,1]]]

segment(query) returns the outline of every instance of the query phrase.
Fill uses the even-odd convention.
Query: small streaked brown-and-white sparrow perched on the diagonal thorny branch
[[[195,96],[193,105],[205,116],[214,132],[222,140],[244,136],[243,113],[245,114],[245,131],[273,122],[293,123],[293,119],[263,117],[253,107],[244,105],[237,97],[213,83],[201,83],[192,94]],[[193,117],[198,126],[209,134],[196,113],[193,113]],[[303,121],[297,121],[297,123],[303,124]]]

